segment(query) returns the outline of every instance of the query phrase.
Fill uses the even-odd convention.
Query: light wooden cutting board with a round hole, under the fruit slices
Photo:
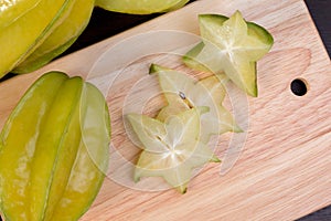
[[[213,139],[223,162],[196,171],[185,194],[161,179],[134,183],[131,162],[139,148],[127,136],[122,115],[153,114],[163,104],[149,64],[201,74],[180,61],[199,41],[196,15],[235,10],[275,38],[258,62],[258,98],[228,87],[225,105],[245,133]],[[293,220],[331,204],[331,65],[301,0],[201,0],[10,78],[0,84],[1,128],[25,90],[50,70],[93,82],[110,109],[108,177],[82,220]],[[305,96],[292,94],[295,78],[306,82]]]

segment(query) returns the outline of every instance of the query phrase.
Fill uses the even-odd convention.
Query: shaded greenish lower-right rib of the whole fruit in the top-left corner
[[[67,18],[12,72],[29,73],[35,71],[62,54],[84,31],[93,9],[94,0],[75,0]]]

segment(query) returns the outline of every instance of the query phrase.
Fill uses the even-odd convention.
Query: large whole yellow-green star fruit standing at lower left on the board
[[[77,220],[108,167],[110,118],[82,77],[41,76],[0,134],[0,206],[8,220]]]

